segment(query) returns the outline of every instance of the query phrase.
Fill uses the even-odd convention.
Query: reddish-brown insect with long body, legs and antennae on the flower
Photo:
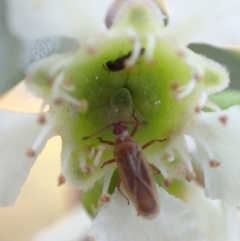
[[[119,192],[127,199],[129,199],[137,210],[137,215],[145,219],[153,219],[158,216],[160,212],[159,200],[157,197],[156,184],[152,175],[152,169],[160,173],[159,169],[154,165],[147,162],[142,150],[153,144],[154,142],[162,142],[164,140],[151,140],[142,147],[132,139],[137,131],[140,123],[133,113],[135,119],[135,126],[129,135],[127,127],[124,124],[133,124],[133,122],[119,121],[112,123],[100,131],[94,133],[88,139],[99,132],[113,126],[113,134],[115,135],[116,142],[111,142],[99,138],[100,142],[114,145],[114,159],[106,161],[102,167],[110,163],[116,162],[119,170],[119,181],[117,188]],[[128,197],[121,191],[120,185],[123,185]]]

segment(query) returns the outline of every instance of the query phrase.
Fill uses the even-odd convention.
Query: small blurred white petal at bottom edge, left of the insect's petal
[[[66,216],[50,227],[38,232],[32,241],[80,241],[84,240],[91,219],[81,206],[73,208]]]

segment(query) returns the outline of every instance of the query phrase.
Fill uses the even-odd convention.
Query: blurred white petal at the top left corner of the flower
[[[112,0],[9,0],[11,30],[23,39],[65,35],[84,39],[105,30]]]

